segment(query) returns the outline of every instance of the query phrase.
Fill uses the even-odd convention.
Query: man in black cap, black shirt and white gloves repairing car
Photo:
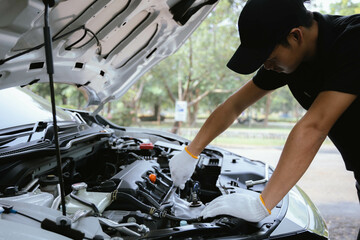
[[[289,134],[264,191],[258,196],[220,196],[203,210],[205,218],[227,214],[257,222],[271,214],[305,173],[327,136],[342,154],[346,168],[354,172],[360,199],[360,15],[312,13],[303,2],[246,3],[238,22],[241,45],[228,67],[241,74],[260,69],[210,115],[190,145],[170,160],[174,184],[182,187],[206,145],[276,88],[288,85],[307,109]]]

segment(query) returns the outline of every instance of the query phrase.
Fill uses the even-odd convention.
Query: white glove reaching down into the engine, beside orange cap
[[[174,185],[184,189],[186,181],[191,177],[195,170],[197,157],[185,147],[180,153],[173,156],[169,161],[170,174]]]

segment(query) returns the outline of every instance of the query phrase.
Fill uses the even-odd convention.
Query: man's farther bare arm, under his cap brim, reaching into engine
[[[227,129],[247,107],[269,92],[270,91],[257,87],[252,80],[247,82],[214,110],[187,149],[193,155],[199,155],[201,151],[214,138]]]

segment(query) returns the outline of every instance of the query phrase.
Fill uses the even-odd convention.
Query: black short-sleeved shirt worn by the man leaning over
[[[288,85],[300,105],[310,108],[321,91],[360,92],[360,15],[334,16],[314,13],[319,25],[317,54],[291,74],[261,67],[254,83],[265,90]],[[331,106],[329,106],[331,107]],[[360,101],[358,98],[342,114],[329,132],[346,168],[360,173]]]

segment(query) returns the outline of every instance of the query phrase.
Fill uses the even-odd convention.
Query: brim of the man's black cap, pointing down
[[[259,51],[240,47],[236,50],[228,64],[228,68],[240,74],[250,74],[255,72],[270,56],[272,48]]]

